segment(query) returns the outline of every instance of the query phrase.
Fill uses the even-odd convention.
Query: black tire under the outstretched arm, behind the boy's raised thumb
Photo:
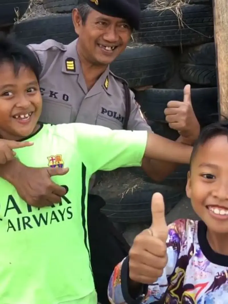
[[[127,172],[132,176],[137,176],[134,168],[118,169],[121,170],[123,181]],[[142,169],[139,176],[143,176]],[[185,195],[184,188],[170,187],[151,182],[144,182],[140,187],[128,191],[124,195],[117,195],[116,191],[112,192],[112,187],[99,187],[96,194],[100,195],[106,205],[102,208],[105,213],[115,223],[147,223],[151,222],[151,197],[153,193],[160,192],[164,196],[165,212],[168,213]]]

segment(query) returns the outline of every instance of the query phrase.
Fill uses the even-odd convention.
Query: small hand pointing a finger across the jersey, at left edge
[[[0,164],[5,164],[7,161],[12,161],[15,157],[16,152],[13,149],[23,148],[32,146],[33,143],[30,141],[14,141],[0,139]]]

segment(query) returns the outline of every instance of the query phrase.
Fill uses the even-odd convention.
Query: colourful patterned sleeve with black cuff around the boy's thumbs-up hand
[[[169,225],[168,238],[166,241],[168,263],[164,268],[163,275],[158,278],[157,282],[149,286],[142,286],[143,292],[137,298],[137,303],[154,303],[164,297],[168,288],[169,278],[174,273],[180,254],[183,231],[185,230],[185,221],[186,220],[178,220]],[[112,273],[108,286],[108,297],[111,303],[130,304],[136,300],[132,299],[128,292],[128,261],[128,257],[123,259],[123,261],[115,267]]]

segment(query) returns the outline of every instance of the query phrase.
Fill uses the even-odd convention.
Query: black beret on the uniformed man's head
[[[87,0],[87,3],[101,14],[123,18],[133,29],[139,29],[139,0]]]

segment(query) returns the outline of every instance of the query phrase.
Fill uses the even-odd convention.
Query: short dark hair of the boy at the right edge
[[[212,123],[211,125],[203,128],[194,144],[190,159],[190,167],[199,147],[204,145],[208,140],[222,135],[227,136],[228,141],[228,121],[223,121],[221,123]]]

